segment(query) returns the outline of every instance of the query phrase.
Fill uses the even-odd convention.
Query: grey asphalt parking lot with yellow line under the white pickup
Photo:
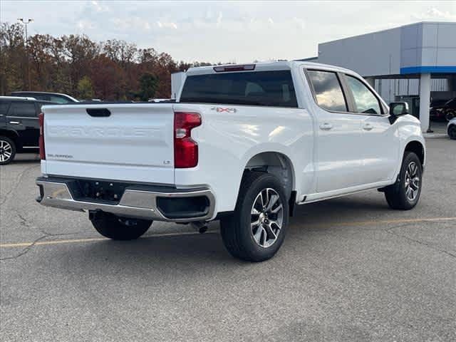
[[[427,139],[418,206],[377,191],[297,210],[279,253],[154,223],[134,242],[37,204],[34,155],[0,168],[1,341],[455,341],[456,143]]]

